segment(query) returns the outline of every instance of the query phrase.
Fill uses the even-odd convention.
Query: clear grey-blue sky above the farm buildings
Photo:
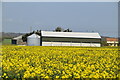
[[[77,32],[118,36],[117,2],[14,2],[2,4],[3,31],[54,30],[57,26]]]

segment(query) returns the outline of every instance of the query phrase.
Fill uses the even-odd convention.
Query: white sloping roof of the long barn
[[[41,31],[43,37],[101,38],[99,33]]]

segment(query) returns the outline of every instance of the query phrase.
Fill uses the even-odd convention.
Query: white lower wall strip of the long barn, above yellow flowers
[[[42,46],[91,46],[100,47],[100,43],[42,42]]]

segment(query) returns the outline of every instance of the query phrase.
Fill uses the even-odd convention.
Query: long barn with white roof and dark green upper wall
[[[40,40],[42,46],[101,46],[99,33],[41,31]]]

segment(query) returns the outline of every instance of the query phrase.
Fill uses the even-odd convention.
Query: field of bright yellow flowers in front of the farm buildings
[[[118,48],[2,46],[2,78],[118,78]]]

